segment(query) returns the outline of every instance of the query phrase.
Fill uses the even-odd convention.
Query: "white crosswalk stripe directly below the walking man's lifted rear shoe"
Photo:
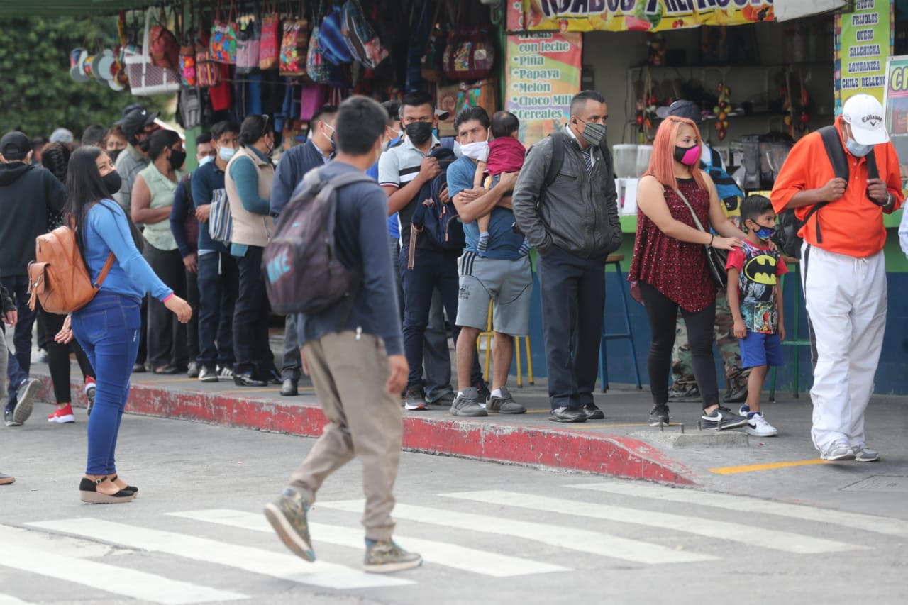
[[[413,583],[410,580],[376,576],[325,561],[307,563],[291,554],[195,538],[174,531],[149,530],[113,521],[67,519],[40,521],[27,525],[76,536],[90,536],[95,540],[129,544],[135,548],[166,552],[187,559],[202,560],[324,588],[360,589]]]

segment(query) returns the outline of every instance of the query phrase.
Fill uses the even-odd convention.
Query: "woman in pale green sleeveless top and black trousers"
[[[183,141],[173,130],[159,130],[149,138],[152,163],[138,174],[133,184],[133,223],[143,224],[143,256],[163,283],[177,296],[186,295],[183,256],[170,230],[173,193],[183,174],[186,160]],[[177,322],[162,302],[148,300],[148,362],[156,374],[185,372],[189,352],[185,346],[186,327]]]

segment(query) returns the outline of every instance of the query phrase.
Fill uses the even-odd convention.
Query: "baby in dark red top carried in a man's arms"
[[[500,174],[518,172],[523,167],[523,159],[527,154],[527,148],[518,140],[520,121],[516,115],[510,112],[496,112],[492,116],[491,122],[492,136],[495,139],[489,143],[488,159],[485,161],[481,157],[477,159],[476,176],[473,179],[474,187],[486,186],[491,189],[498,183],[496,177]],[[479,226],[479,242],[476,249],[480,256],[485,255],[489,250],[490,221],[491,214],[486,214],[476,221]],[[527,250],[524,251],[523,248]],[[521,252],[528,252],[528,250],[529,243],[524,242]]]

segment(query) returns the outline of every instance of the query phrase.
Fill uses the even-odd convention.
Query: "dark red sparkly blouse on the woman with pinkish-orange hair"
[[[678,179],[678,189],[693,206],[700,223],[708,227],[709,192],[700,189],[694,179]],[[672,217],[696,229],[690,210],[677,193],[668,186],[663,193]],[[716,284],[706,268],[704,245],[667,236],[642,211],[637,214],[637,240],[627,280],[650,284],[688,312],[702,311],[716,300]]]

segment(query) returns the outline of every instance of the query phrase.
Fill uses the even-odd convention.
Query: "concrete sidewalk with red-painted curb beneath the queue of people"
[[[46,368],[37,365],[35,370]],[[74,368],[74,375],[77,373]],[[50,379],[46,375],[41,378],[39,399],[51,401]],[[766,418],[779,430],[779,436],[761,439],[748,437],[744,431],[698,431],[699,402],[673,403],[672,424],[660,431],[646,422],[651,407],[649,393],[621,385],[597,394],[597,405],[606,420],[549,422],[544,381],[518,388],[512,377],[511,385],[512,395],[528,413],[462,419],[437,406],[429,406],[426,412],[404,412],[405,449],[722,491],[730,484],[738,486],[736,491],[751,491],[749,487],[755,488],[752,477],[760,476],[761,481],[766,478],[766,473],[756,471],[775,471],[776,476],[801,481],[805,493],[811,489],[812,478],[826,484],[824,476],[810,471],[819,471],[824,462],[818,460],[810,441],[812,406],[806,393],[798,399],[791,393],[776,393],[778,401],[765,403]],[[78,393],[75,404],[84,406],[81,382],[73,383],[73,392]],[[845,469],[846,482],[861,481],[873,473],[908,475],[908,446],[903,440],[908,429],[905,399],[874,397],[867,434],[870,445],[883,453],[883,461],[836,465]],[[51,407],[38,407],[33,422],[43,421],[45,410],[50,412]],[[277,386],[244,388],[233,382],[202,383],[185,376],[133,374],[133,392],[126,411],[307,437],[320,435],[325,423],[311,383],[305,379],[299,397],[281,397]],[[82,413],[76,412],[76,417],[77,422],[85,421]]]

